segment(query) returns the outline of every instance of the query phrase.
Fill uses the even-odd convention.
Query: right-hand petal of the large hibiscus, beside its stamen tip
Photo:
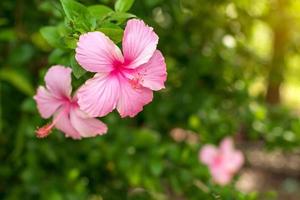
[[[166,63],[160,51],[156,50],[149,62],[137,68],[138,75],[141,76],[141,85],[151,90],[165,88],[167,79]]]

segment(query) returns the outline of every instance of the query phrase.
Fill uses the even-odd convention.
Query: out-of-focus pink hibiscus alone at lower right
[[[208,165],[213,180],[220,185],[228,184],[244,163],[242,152],[234,149],[231,138],[225,138],[219,148],[205,145],[199,159]]]

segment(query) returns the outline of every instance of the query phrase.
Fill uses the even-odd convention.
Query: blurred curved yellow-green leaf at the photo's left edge
[[[3,68],[0,70],[0,79],[5,80],[15,86],[24,94],[32,96],[34,94],[34,89],[27,78],[23,76],[22,73],[8,68]]]

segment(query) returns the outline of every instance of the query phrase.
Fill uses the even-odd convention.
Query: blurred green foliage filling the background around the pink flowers
[[[276,1],[61,2],[0,2],[0,199],[254,200],[258,194],[210,181],[198,161],[201,145],[234,135],[271,149],[299,146],[297,113],[268,104],[264,92],[251,92],[259,78],[268,80]],[[291,18],[299,8],[288,5]],[[74,60],[79,35],[100,30],[119,43],[126,20],[134,16],[160,37],[166,89],[136,118],[105,117],[105,136],[73,141],[54,131],[37,139],[34,131],[46,120],[32,95],[47,68],[71,66],[78,87],[90,76]],[[292,26],[283,57],[298,53],[299,25]],[[177,127],[198,137],[176,142],[170,132]]]

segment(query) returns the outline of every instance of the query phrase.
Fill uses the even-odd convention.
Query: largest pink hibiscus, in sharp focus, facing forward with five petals
[[[127,22],[121,50],[103,33],[79,38],[76,60],[96,72],[78,91],[80,108],[91,116],[104,116],[117,108],[121,117],[133,117],[152,101],[152,90],[164,88],[166,64],[156,50],[158,36],[143,21]]]

